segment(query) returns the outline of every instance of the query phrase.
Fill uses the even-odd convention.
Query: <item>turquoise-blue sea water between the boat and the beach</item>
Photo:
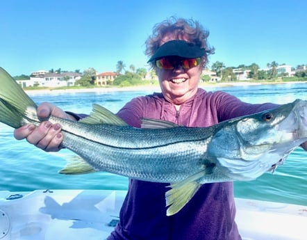
[[[300,98],[307,100],[307,83],[276,85],[206,87],[224,90],[245,102],[274,102],[285,104]],[[152,90],[106,91],[97,93],[50,92],[29,95],[40,104],[53,102],[66,111],[90,113],[92,104],[105,106],[116,113],[128,100],[147,95]],[[69,150],[47,153],[26,141],[17,141],[13,129],[0,123],[0,190],[33,191],[35,189],[119,189],[128,186],[126,177],[110,173],[88,175],[60,175],[66,160],[73,155]],[[295,149],[273,175],[265,173],[250,182],[235,182],[235,196],[274,202],[307,205],[307,152]]]

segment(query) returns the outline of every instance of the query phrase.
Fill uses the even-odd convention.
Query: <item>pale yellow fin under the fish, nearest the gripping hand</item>
[[[86,173],[97,172],[90,164],[88,164],[82,157],[73,155],[71,159],[67,161],[65,168],[59,171],[60,174],[78,175]]]

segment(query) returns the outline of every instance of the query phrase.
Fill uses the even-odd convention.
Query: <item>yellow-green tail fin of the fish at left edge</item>
[[[37,107],[13,77],[0,67],[0,122],[10,127],[20,127],[29,106]]]

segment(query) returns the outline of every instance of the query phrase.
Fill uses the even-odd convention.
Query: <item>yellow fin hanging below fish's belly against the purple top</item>
[[[201,186],[201,184],[197,182],[197,179],[204,177],[207,171],[207,169],[201,170],[187,179],[183,179],[183,181],[176,182],[169,186],[172,189],[165,193],[166,206],[169,206],[167,209],[167,216],[176,214],[190,201]]]

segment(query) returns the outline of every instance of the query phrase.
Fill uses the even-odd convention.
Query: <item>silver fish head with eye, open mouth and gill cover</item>
[[[256,179],[274,171],[307,141],[307,101],[297,99],[228,123],[208,145],[211,161],[232,179]]]

